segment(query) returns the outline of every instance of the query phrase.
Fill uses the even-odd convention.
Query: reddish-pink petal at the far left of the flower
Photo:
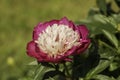
[[[35,45],[36,44],[34,43],[34,41],[31,41],[27,44],[27,54],[31,57],[38,58],[39,55],[37,54],[37,52],[35,50],[36,49]]]

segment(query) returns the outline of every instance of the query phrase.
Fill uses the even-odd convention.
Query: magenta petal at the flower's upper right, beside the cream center
[[[83,40],[86,40],[87,39],[87,36],[88,36],[88,29],[86,28],[85,25],[79,25],[77,26],[77,29],[79,30],[79,34],[81,34],[81,37]]]

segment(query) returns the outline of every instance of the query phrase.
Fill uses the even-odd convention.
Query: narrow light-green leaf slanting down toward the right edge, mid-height
[[[109,39],[109,41],[118,49],[118,40],[115,37],[115,35],[106,30],[102,31],[105,34],[105,36]]]

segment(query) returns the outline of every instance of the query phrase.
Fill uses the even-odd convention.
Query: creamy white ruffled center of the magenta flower
[[[35,42],[40,50],[50,57],[56,57],[63,55],[73,46],[79,46],[79,39],[80,36],[72,28],[62,24],[53,24],[40,33]]]

